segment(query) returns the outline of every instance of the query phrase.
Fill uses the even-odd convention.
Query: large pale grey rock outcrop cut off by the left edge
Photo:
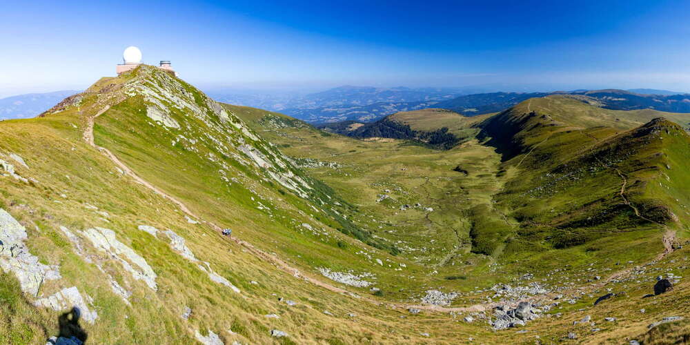
[[[26,228],[0,208],[0,267],[17,276],[24,293],[36,296],[44,280],[59,279],[60,273],[57,266],[41,264],[29,253],[26,239]]]

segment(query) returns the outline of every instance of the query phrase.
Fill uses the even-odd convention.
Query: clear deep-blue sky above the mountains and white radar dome
[[[11,1],[0,96],[80,89],[134,45],[203,88],[690,91],[690,1]]]

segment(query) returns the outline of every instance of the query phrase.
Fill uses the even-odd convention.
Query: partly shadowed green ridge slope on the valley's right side
[[[662,201],[648,186],[662,184],[663,170],[668,170],[664,157],[669,152],[687,155],[680,147],[690,141],[680,126],[667,120],[642,122],[660,115],[676,121],[687,117],[602,110],[546,97],[481,124],[480,137],[491,137],[489,144],[504,152],[504,168],[523,171],[497,195],[524,228],[511,245],[562,248],[629,230],[677,226],[671,209],[678,212],[686,201]],[[660,132],[678,137],[678,148],[658,136]],[[686,192],[676,188],[670,193]]]

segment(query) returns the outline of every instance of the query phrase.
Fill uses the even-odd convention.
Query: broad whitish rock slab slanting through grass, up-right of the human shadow
[[[135,253],[132,248],[125,246],[115,238],[115,232],[106,228],[91,228],[83,231],[84,237],[88,238],[99,250],[108,253],[116,259],[126,271],[132,274],[135,279],[143,280],[148,287],[157,290],[156,273],[146,260]],[[132,264],[138,267],[134,268]]]

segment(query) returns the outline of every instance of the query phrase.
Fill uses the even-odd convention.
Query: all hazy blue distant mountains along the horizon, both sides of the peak
[[[373,122],[396,112],[442,108],[464,116],[499,112],[526,99],[573,95],[613,110],[655,109],[690,112],[690,96],[669,90],[574,90],[556,92],[483,92],[481,88],[374,88],[341,86],[311,94],[259,90],[222,90],[208,95],[224,103],[282,112],[315,124]],[[0,119],[34,117],[77,91],[32,93],[0,99]]]

